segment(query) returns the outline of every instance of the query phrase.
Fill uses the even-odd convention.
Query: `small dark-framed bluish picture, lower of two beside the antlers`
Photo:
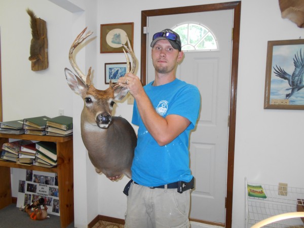
[[[126,62],[117,63],[104,63],[104,82],[109,84],[110,80],[112,83],[117,83],[120,77],[123,77],[127,72]]]

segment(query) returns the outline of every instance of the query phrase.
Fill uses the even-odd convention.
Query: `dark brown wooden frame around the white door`
[[[228,159],[227,159],[227,189],[226,189],[226,216],[225,216],[226,219],[224,224],[224,227],[231,228],[241,1],[141,11],[141,66],[140,66],[141,79],[140,80],[142,85],[146,84],[147,37],[146,34],[144,33],[144,28],[147,26],[147,17],[182,14],[182,13],[196,13],[196,12],[215,11],[215,10],[227,10],[227,9],[234,10],[234,29],[232,31],[233,47],[232,47],[232,64],[231,64],[229,142],[228,142]],[[222,226],[222,224],[215,224],[215,225]]]

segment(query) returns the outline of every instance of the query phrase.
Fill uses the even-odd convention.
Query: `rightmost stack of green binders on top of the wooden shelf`
[[[47,121],[46,135],[65,137],[73,134],[73,118],[58,116]]]

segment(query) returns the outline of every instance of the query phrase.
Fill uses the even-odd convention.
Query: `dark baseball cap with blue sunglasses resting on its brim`
[[[166,28],[163,31],[155,33],[151,42],[151,48],[153,48],[156,42],[158,42],[159,40],[167,40],[170,42],[174,49],[178,49],[179,51],[181,51],[180,37],[176,32],[172,31],[171,29]]]

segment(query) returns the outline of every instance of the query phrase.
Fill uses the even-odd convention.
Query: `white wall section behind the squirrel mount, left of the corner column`
[[[1,1],[0,5],[3,119],[55,117],[60,108],[65,115],[72,116],[72,93],[63,71],[69,65],[71,36],[66,28],[71,26],[71,15],[48,1],[13,0]],[[49,68],[46,70],[31,70],[27,8],[47,22]]]

